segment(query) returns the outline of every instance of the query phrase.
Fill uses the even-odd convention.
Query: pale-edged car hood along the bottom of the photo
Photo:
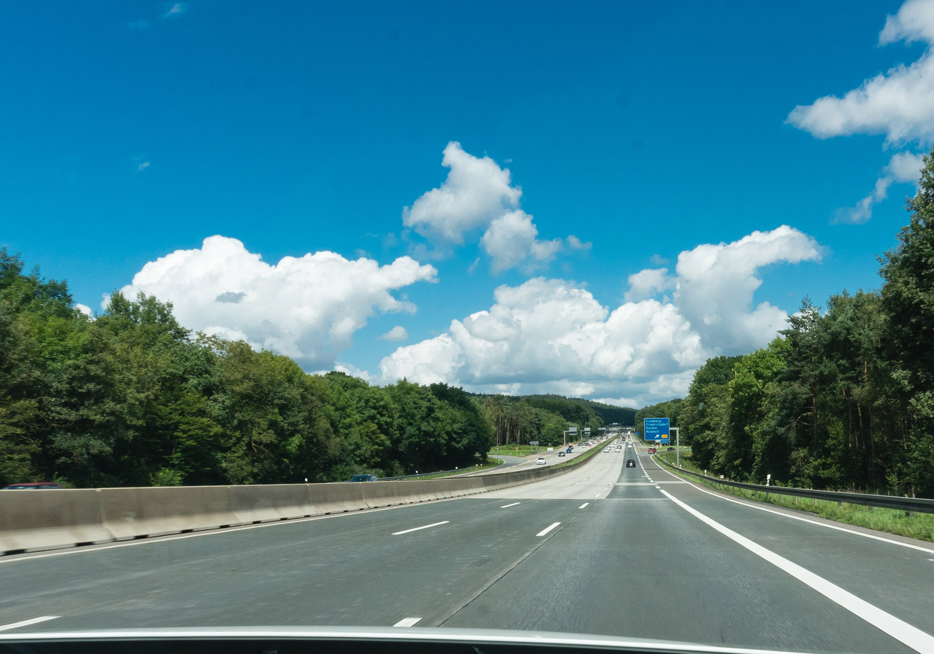
[[[111,648],[134,642],[215,642],[215,641],[317,641],[325,643],[411,643],[416,645],[501,646],[526,650],[534,645],[545,649],[607,649],[614,651],[649,651],[671,653],[712,652],[717,654],[795,654],[785,650],[721,647],[674,641],[647,640],[589,633],[523,632],[493,629],[401,628],[401,627],[200,627],[120,630],[78,630],[70,632],[0,633],[0,649],[23,644],[29,651],[50,650],[42,644],[65,646],[99,642]],[[64,649],[64,647],[63,647]],[[18,651],[13,649],[13,651]],[[59,651],[59,650],[56,650]],[[132,652],[129,646],[126,651]],[[205,651],[201,649],[201,651]]]

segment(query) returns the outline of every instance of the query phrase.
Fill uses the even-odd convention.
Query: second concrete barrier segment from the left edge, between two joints
[[[254,487],[257,490],[262,487]],[[100,489],[101,517],[118,540],[242,524],[227,486]]]

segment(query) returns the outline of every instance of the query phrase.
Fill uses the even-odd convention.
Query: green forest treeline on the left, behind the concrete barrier
[[[587,401],[540,399],[308,375],[288,357],[191,333],[142,294],[114,293],[92,319],[63,281],[0,250],[0,487],[397,476],[602,424]]]

